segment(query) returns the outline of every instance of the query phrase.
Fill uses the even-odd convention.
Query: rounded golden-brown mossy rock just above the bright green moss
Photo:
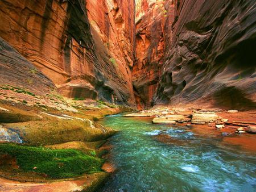
[[[97,141],[112,136],[115,131],[102,126],[91,127],[89,121],[77,119],[48,119],[5,124],[19,134],[24,143],[51,145],[69,141]]]

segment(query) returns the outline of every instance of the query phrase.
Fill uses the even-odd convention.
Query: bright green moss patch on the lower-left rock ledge
[[[0,155],[16,158],[24,172],[47,174],[51,178],[76,177],[101,171],[103,160],[75,149],[48,149],[16,144],[0,144]]]

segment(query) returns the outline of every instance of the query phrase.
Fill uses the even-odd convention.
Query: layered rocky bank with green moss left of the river
[[[108,178],[101,148],[115,131],[98,123],[129,107],[0,89],[0,178],[3,191],[93,191]],[[105,165],[104,165],[105,166]]]

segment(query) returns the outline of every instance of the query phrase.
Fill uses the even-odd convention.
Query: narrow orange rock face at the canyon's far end
[[[164,61],[164,33],[174,21],[172,1],[139,0],[136,2],[136,61],[133,85],[137,107],[148,108],[159,82]]]

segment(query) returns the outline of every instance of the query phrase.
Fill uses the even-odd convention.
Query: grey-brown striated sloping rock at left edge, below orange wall
[[[38,95],[49,93],[56,88],[49,78],[0,37],[1,88],[6,89],[6,84],[23,87]]]

